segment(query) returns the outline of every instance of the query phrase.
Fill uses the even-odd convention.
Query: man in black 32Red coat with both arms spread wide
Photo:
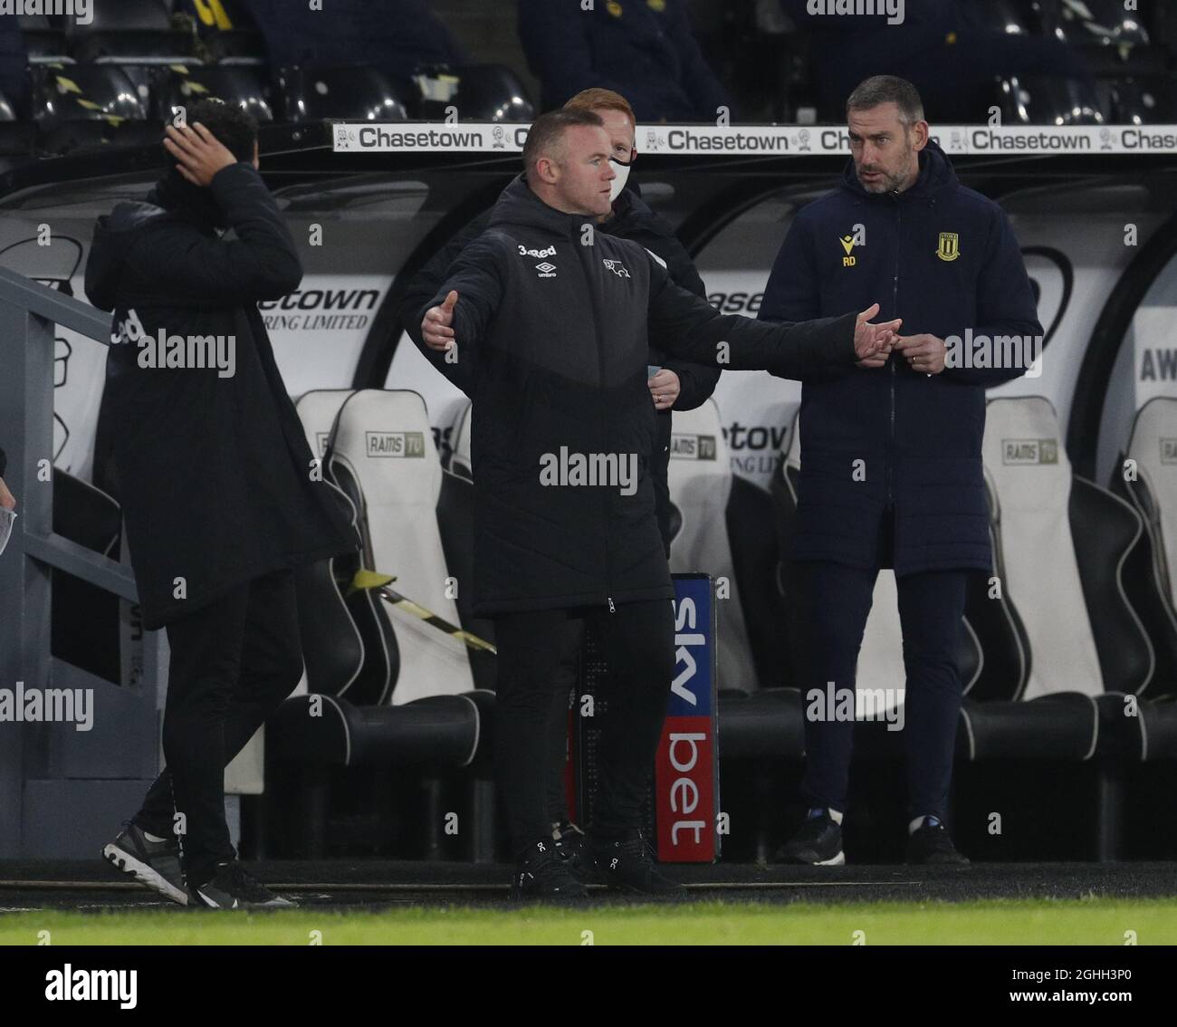
[[[597,864],[617,888],[674,887],[639,827],[674,670],[674,590],[649,471],[651,339],[696,363],[799,376],[873,356],[898,327],[869,324],[877,307],[771,327],[717,313],[644,247],[596,231],[611,208],[610,151],[597,114],[537,119],[526,178],[421,311],[426,344],[473,367],[474,611],[496,625],[496,756],[517,895],[584,894],[556,852],[536,773],[568,616],[596,618],[613,676]]]

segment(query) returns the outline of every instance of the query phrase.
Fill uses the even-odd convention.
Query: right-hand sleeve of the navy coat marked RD
[[[960,325],[950,336],[963,340],[966,327],[972,329],[973,338],[985,336],[991,340],[1011,336],[1040,339],[1043,336],[1030,276],[1026,273],[1026,265],[1022,259],[1022,250],[1013,234],[1010,219],[1000,210],[996,212],[990,228],[985,260],[977,281],[977,325]],[[1000,351],[999,346],[993,349]],[[950,347],[950,358],[951,352]],[[1016,352],[1020,355],[1024,350],[1018,347]],[[953,382],[992,387],[1003,382],[1020,378],[1028,370],[1029,367],[1024,366],[951,367],[945,365],[943,375]]]

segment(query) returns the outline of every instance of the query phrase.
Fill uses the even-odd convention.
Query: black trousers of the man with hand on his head
[[[179,831],[185,876],[198,886],[235,856],[225,822],[225,767],[302,676],[292,571],[254,578],[167,624],[164,771],[134,823]]]

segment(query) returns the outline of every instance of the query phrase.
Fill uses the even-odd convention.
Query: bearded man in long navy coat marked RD
[[[760,318],[829,317],[876,297],[884,318],[903,318],[905,334],[889,353],[802,379],[794,558],[806,690],[833,682],[836,695],[852,696],[875,579],[893,568],[907,675],[907,859],[964,862],[943,817],[965,577],[992,565],[980,459],[985,387],[1025,372],[1042,326],[1009,220],[959,184],[929,139],[916,88],[871,78],[846,110],[853,159],[840,187],[794,219]],[[1028,345],[986,349],[995,339]],[[822,707],[810,698],[806,709]],[[851,721],[806,715],[802,794],[810,814],[780,859],[844,862],[852,731]]]

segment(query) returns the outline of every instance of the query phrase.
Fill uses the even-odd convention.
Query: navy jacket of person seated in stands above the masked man
[[[638,121],[716,120],[731,99],[691,35],[684,0],[519,0],[519,38],[544,108],[581,90],[625,97]]]

